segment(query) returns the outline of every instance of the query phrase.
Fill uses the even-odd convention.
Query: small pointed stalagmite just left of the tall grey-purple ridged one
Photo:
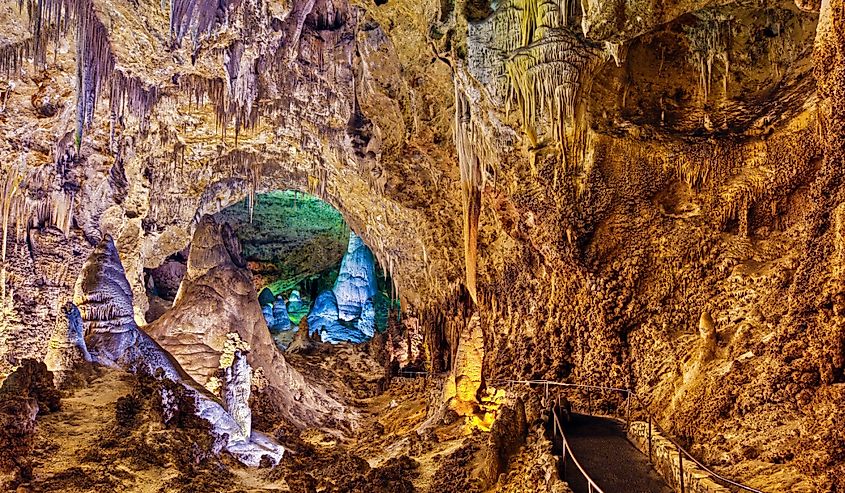
[[[70,301],[62,307],[62,315],[56,320],[44,363],[53,373],[53,382],[58,388],[73,383],[77,373],[83,371],[82,367],[91,363],[91,354],[85,345],[82,316]]]

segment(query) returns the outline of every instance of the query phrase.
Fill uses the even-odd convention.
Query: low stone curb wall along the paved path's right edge
[[[648,423],[633,421],[628,429],[628,439],[648,455]],[[666,479],[675,491],[680,492],[680,458],[675,445],[652,428],[651,462],[655,470]],[[710,479],[710,475],[690,460],[684,460],[684,493],[730,493],[728,488]]]

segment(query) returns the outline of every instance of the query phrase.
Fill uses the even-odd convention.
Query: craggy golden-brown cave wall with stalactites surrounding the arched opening
[[[69,2],[105,51],[17,30],[2,51],[0,178],[23,180],[0,354],[43,354],[103,234],[143,314],[143,268],[203,214],[300,190],[373,250],[432,369],[477,312],[490,382],[631,387],[726,473],[831,487],[840,4],[241,2],[178,42],[158,3]],[[96,107],[77,67],[111,85]]]

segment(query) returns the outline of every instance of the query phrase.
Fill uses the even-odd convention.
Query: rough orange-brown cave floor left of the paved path
[[[352,345],[322,345],[289,362],[347,402],[354,426],[291,430],[253,411],[253,427],[287,452],[274,468],[250,469],[208,452],[204,422],[162,423],[151,380],[97,368],[87,384],[65,391],[62,409],[40,416],[26,492],[437,492],[535,491],[538,457],[550,443],[538,430],[512,457],[508,472],[482,488],[489,434],[463,419],[427,422],[440,382],[395,378],[379,391],[379,365]],[[257,418],[257,419],[256,419]],[[262,421],[263,418],[263,421]],[[174,424],[175,423],[175,424]]]

